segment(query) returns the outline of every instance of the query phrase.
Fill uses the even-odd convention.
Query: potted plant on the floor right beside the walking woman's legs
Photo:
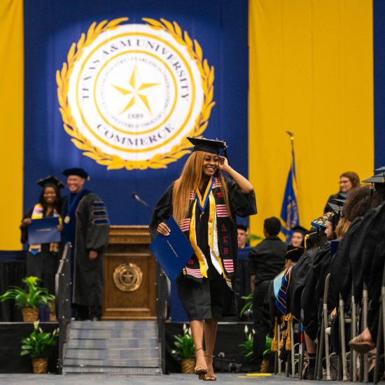
[[[182,373],[193,373],[195,368],[195,346],[191,330],[183,323],[183,335],[174,335],[172,355],[181,361]]]

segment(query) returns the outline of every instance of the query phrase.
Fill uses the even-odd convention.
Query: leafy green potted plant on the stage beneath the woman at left
[[[55,300],[55,295],[48,293],[48,289],[37,286],[41,281],[37,276],[27,276],[22,279],[27,285],[27,291],[18,286],[9,286],[3,295],[0,295],[0,302],[15,300],[15,305],[22,309],[23,321],[33,322],[38,318],[39,306],[50,306]]]

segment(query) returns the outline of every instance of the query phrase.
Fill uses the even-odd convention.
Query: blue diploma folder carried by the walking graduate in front
[[[171,230],[170,235],[158,234],[148,247],[169,279],[173,280],[181,274],[183,267],[193,255],[194,249],[172,216],[166,224]]]

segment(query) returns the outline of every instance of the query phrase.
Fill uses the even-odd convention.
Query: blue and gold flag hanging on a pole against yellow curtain
[[[281,232],[285,235],[287,244],[290,242],[293,228],[300,225],[297,205],[297,177],[295,176],[294,137],[290,132],[288,134],[291,137],[291,165],[281,209]]]

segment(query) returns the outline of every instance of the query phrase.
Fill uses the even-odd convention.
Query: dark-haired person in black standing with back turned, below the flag
[[[281,230],[278,218],[265,219],[263,239],[260,244],[251,248],[248,255],[249,273],[251,275],[251,291],[253,292],[253,358],[251,371],[259,372],[262,364],[265,339],[269,331],[268,291],[271,281],[281,272],[285,265],[287,246],[277,235]]]

